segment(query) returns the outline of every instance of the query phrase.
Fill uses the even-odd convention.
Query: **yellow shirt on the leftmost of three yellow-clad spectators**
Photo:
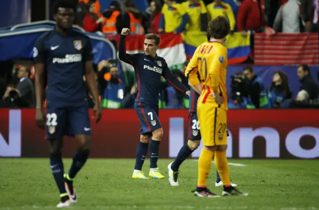
[[[173,2],[169,7],[164,3],[161,8],[161,13],[164,15],[165,20],[165,32],[173,32],[182,21],[182,16],[186,13],[185,8],[180,3]]]

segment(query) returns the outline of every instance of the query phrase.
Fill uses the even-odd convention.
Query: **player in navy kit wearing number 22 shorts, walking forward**
[[[50,168],[61,199],[58,208],[77,202],[73,180],[90,152],[91,123],[83,74],[95,100],[93,117],[97,113],[96,122],[102,117],[93,72],[91,41],[72,29],[74,13],[75,4],[69,0],[56,0],[53,4],[55,29],[39,37],[33,49],[36,124],[41,129],[46,128],[46,139],[50,141]],[[48,77],[46,115],[42,99],[45,71]],[[61,155],[64,135],[75,137],[77,146],[67,174],[64,174]]]

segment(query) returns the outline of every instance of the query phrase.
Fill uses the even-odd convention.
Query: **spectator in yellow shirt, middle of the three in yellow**
[[[189,17],[186,31],[207,31],[207,10],[202,0],[187,0],[182,3]]]

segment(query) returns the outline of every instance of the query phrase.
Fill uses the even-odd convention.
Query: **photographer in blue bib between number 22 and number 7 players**
[[[102,107],[120,108],[124,98],[125,83],[119,79],[119,69],[114,60],[106,61],[104,65],[98,75]]]

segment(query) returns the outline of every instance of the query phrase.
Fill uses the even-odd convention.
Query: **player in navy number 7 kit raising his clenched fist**
[[[156,51],[160,44],[159,35],[154,33],[145,35],[145,53],[131,55],[127,54],[125,49],[125,38],[129,33],[129,28],[122,30],[119,58],[134,67],[138,84],[134,108],[141,122],[141,136],[132,178],[147,179],[142,172],[142,166],[150,147],[149,177],[162,179],[164,176],[160,174],[157,166],[160,140],[163,136],[163,129],[158,118],[160,77],[163,76],[167,82],[188,96],[189,91],[173,76],[165,59],[157,55]]]

